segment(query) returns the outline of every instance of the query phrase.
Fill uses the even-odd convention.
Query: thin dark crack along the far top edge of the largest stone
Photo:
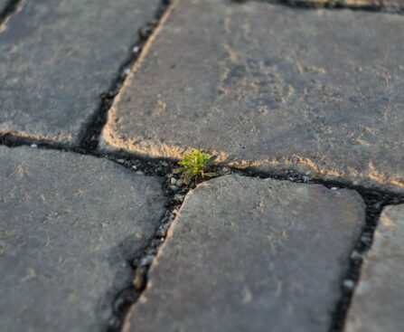
[[[341,0],[334,0],[329,2],[311,2],[305,0],[232,0],[235,3],[245,4],[249,1],[268,3],[270,5],[283,5],[287,7],[302,9],[302,10],[313,10],[324,8],[328,10],[352,10],[352,11],[362,11],[362,12],[372,12],[372,13],[385,13],[385,14],[404,14],[404,6],[390,7],[386,5],[368,4],[368,5],[351,5],[346,4]]]

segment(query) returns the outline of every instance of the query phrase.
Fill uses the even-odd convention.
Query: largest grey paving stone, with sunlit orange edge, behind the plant
[[[110,110],[104,148],[204,148],[404,191],[403,30],[395,14],[179,0]]]

